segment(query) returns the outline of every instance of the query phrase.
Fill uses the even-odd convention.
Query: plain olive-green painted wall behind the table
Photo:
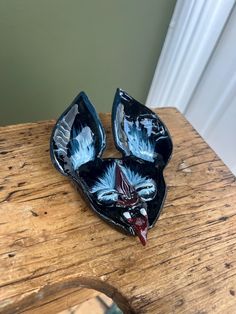
[[[81,90],[145,101],[175,0],[0,0],[0,124],[57,117]]]

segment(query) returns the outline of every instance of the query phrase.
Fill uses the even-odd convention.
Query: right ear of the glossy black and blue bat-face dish
[[[124,156],[165,166],[172,153],[170,134],[149,108],[118,89],[112,108],[112,127],[117,149]]]

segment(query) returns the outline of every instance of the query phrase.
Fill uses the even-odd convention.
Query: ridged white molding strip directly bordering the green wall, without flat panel
[[[149,107],[186,108],[235,0],[178,0],[148,93]]]

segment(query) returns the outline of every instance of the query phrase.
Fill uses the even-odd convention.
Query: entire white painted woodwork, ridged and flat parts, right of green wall
[[[236,175],[235,0],[178,0],[147,97],[177,107]]]

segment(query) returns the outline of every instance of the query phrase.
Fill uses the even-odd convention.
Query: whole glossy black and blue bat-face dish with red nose
[[[84,92],[58,119],[50,154],[56,169],[82,191],[91,208],[143,245],[166,195],[163,170],[173,145],[160,118],[121,89],[112,108],[112,129],[122,158],[102,158],[106,136]]]

